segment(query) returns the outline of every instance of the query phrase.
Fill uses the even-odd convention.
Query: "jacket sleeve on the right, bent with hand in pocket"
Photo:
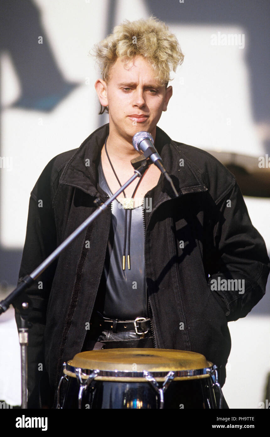
[[[208,284],[232,321],[245,317],[265,294],[270,262],[237,183],[218,206]]]

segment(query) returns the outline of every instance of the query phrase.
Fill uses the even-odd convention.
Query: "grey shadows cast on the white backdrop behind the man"
[[[267,93],[269,57],[265,42],[269,40],[267,15],[268,1],[192,0],[186,3],[170,0],[166,3],[145,0],[149,15],[170,24],[220,24],[243,27],[249,33],[246,64],[252,95],[252,111],[255,123],[268,122],[269,99]],[[116,0],[108,3],[104,32],[112,32],[116,17]],[[38,38],[42,36],[42,44]],[[42,27],[40,11],[30,0],[2,0],[0,3],[0,51],[8,52],[21,84],[21,97],[12,107],[28,110],[52,111],[79,83],[65,80],[51,51],[46,31]],[[179,37],[181,45],[181,38]],[[90,48],[89,48],[90,49]],[[266,55],[267,53],[267,55]],[[106,115],[99,116],[98,125],[106,123]],[[98,126],[97,126],[98,127]],[[181,141],[181,139],[178,139]],[[264,144],[270,154],[270,142]],[[47,163],[44,163],[44,166]],[[30,193],[29,193],[30,195]],[[0,247],[0,281],[4,286],[17,284],[22,250]],[[31,273],[31,272],[29,272]],[[268,281],[268,291],[270,281]],[[268,314],[270,293],[252,310],[252,314]]]

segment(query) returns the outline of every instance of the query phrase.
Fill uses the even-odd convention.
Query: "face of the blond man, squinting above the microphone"
[[[128,63],[116,60],[108,82],[102,81],[103,99],[99,96],[100,103],[109,106],[110,133],[129,142],[140,131],[150,132],[155,138],[156,125],[167,109],[172,87],[161,87],[154,77],[154,70],[142,56]]]

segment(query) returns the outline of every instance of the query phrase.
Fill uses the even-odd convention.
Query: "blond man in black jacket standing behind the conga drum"
[[[62,363],[101,347],[198,352],[219,367],[224,385],[227,322],[262,298],[270,268],[233,175],[157,127],[172,96],[170,70],[183,60],[175,36],[152,17],[127,21],[96,47],[96,57],[103,78],[95,87],[109,124],[42,172],[31,192],[20,277],[132,176],[136,132],[153,136],[178,198],[150,165],[29,288],[34,408],[41,388],[46,403],[47,372],[52,405]]]

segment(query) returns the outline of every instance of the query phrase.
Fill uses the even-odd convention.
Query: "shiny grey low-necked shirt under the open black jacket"
[[[98,173],[99,186],[111,196],[112,193],[103,173],[101,159]],[[136,317],[148,317],[143,207],[137,206],[137,208],[127,212],[127,229],[131,213],[130,270],[127,265],[128,232],[126,232],[125,270],[122,267],[125,209],[116,199],[111,204],[111,208],[112,222],[96,309],[109,319],[134,320]]]

